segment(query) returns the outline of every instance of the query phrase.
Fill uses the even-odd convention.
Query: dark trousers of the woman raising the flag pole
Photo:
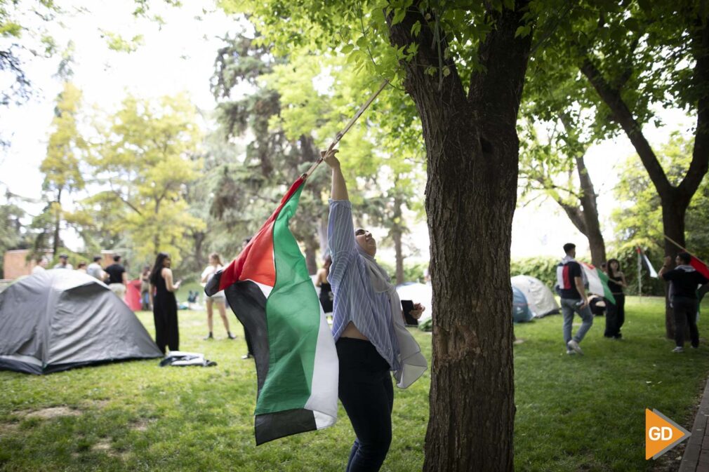
[[[336,347],[340,358],[337,393],[357,434],[346,471],[376,472],[391,444],[394,392],[389,363],[369,341],[341,337]]]

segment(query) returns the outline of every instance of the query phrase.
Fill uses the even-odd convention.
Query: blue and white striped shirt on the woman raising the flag
[[[330,200],[328,245],[333,257],[328,281],[333,286],[333,337],[340,339],[345,327],[354,323],[357,330],[374,344],[376,351],[389,362],[391,370],[401,369],[398,342],[391,323],[389,296],[376,293],[359,254],[352,225],[349,200]]]

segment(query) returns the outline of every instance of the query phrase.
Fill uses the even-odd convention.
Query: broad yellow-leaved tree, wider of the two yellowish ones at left
[[[200,167],[194,105],[183,95],[157,101],[128,96],[109,120],[90,162],[108,190],[94,204],[123,203],[122,230],[140,263],[157,252],[182,258],[186,233],[203,227],[188,211],[186,185]]]

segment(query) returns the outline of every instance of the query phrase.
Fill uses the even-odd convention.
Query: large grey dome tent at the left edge
[[[94,277],[54,269],[0,293],[0,369],[40,374],[156,357],[140,320]]]

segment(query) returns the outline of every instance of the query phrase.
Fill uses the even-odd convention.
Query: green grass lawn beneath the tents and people
[[[652,470],[644,461],[644,409],[691,427],[709,373],[707,345],[670,353],[662,313],[661,300],[630,299],[625,339],[603,338],[597,318],[582,344],[586,356],[565,354],[560,316],[515,326],[523,339],[515,345],[516,470]],[[152,314],[139,317],[152,333]],[[0,372],[0,470],[344,470],[353,433],[342,408],[334,427],[255,446],[256,376],[253,362],[240,359],[242,330],[230,315],[239,337],[225,339],[217,316],[217,339],[204,341],[205,317],[179,313],[180,347],[203,352],[216,367],[160,368],[150,360],[48,376]],[[430,359],[430,334],[413,332]],[[427,373],[395,389],[382,470],[420,470],[429,385]],[[669,467],[677,454],[666,456]]]

